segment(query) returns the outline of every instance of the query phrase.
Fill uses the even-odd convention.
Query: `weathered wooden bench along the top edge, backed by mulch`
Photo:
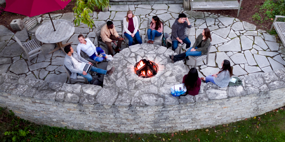
[[[185,1],[185,2],[184,2]],[[183,3],[186,5],[185,10],[189,10],[188,0],[184,0]],[[241,8],[241,2],[237,0],[190,0],[190,15],[192,15],[193,10],[217,10],[217,9],[238,9]],[[188,7],[187,7],[188,5]],[[239,11],[237,12],[237,17],[239,16]]]

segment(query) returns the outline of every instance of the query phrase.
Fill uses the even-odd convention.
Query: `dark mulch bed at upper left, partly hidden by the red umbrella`
[[[68,13],[68,12],[73,12],[73,8],[74,8],[74,3],[76,1],[71,1],[70,3],[68,3],[68,5],[66,5],[66,7],[64,9],[61,10],[57,10],[57,11],[52,11],[50,13],[54,13],[54,14],[58,14],[58,13]],[[0,5],[0,7],[5,8],[6,7],[6,3]],[[95,7],[96,12],[100,12],[102,11],[102,9],[97,9],[97,7]],[[44,14],[42,14],[44,15]],[[14,31],[11,27],[10,27],[10,23],[12,20],[14,19],[24,19],[25,15],[21,15],[21,14],[16,14],[16,13],[12,13],[12,12],[5,12],[5,14],[3,16],[0,16],[0,25],[4,25],[5,27],[7,27],[9,30],[11,30],[13,33],[16,33],[17,31]]]

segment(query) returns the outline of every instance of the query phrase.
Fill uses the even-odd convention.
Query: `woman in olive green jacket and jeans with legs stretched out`
[[[212,41],[212,37],[211,37],[210,30],[208,28],[205,28],[202,34],[200,34],[196,38],[196,41],[193,44],[193,47],[196,47],[196,48],[190,47],[190,49],[188,49],[186,53],[181,53],[175,56],[169,55],[169,57],[170,59],[172,59],[172,62],[174,63],[176,61],[183,60],[185,57],[188,57],[188,56],[205,55],[207,54],[207,49],[211,41]]]

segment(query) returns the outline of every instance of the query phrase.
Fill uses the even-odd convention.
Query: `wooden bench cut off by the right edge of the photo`
[[[275,15],[274,21],[272,23],[272,26],[269,30],[271,32],[273,26],[275,27],[275,30],[280,37],[283,45],[285,45],[285,22],[276,22],[277,18],[285,18],[285,16]]]

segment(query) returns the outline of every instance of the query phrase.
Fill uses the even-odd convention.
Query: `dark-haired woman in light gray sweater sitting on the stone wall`
[[[222,66],[223,67],[219,72],[206,76],[206,78],[201,78],[201,80],[204,80],[206,83],[213,82],[219,87],[227,87],[231,81],[231,77],[233,76],[233,69],[229,60],[223,60]]]

